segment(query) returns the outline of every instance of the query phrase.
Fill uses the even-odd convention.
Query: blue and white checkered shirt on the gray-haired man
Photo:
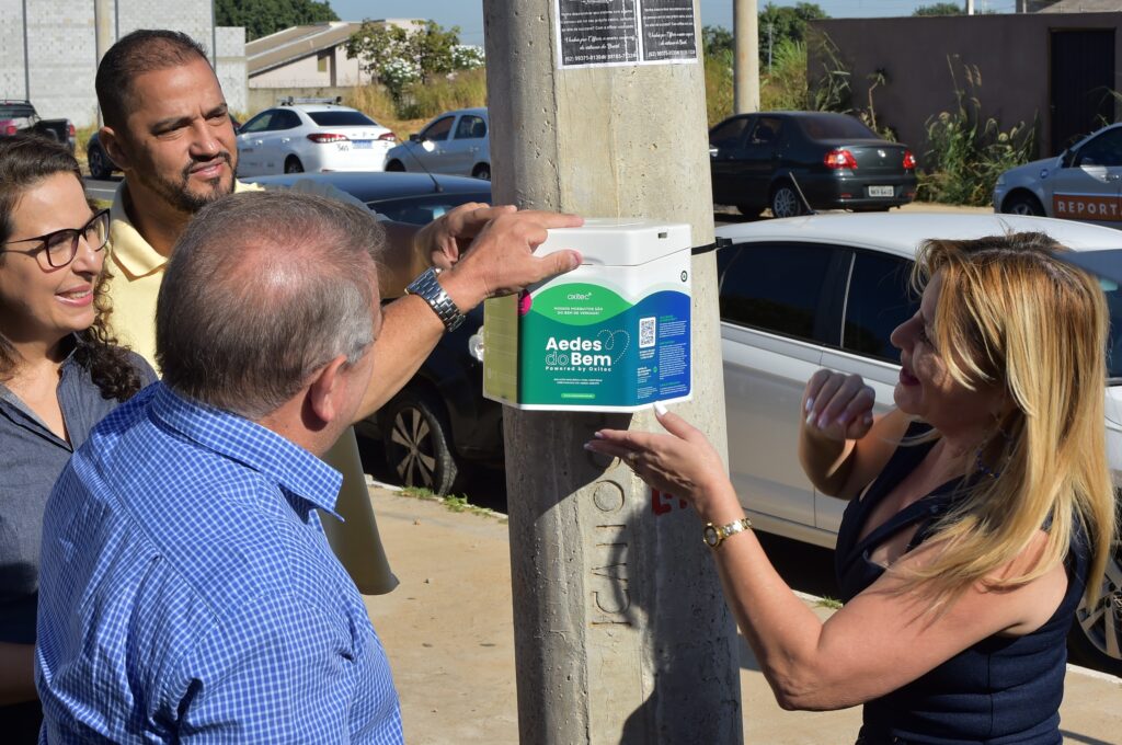
[[[154,384],[44,518],[40,742],[401,743],[381,643],[323,535],[341,477]]]

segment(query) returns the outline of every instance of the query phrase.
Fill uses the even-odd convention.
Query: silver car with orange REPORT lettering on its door
[[[1059,155],[997,176],[993,209],[1119,227],[1122,125],[1093,132]]]

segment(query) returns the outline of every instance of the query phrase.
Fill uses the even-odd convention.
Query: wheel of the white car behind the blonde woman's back
[[[1067,638],[1072,661],[1122,675],[1122,559],[1112,557],[1091,603],[1082,601]]]

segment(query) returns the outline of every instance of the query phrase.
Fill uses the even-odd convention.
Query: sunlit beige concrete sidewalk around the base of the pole
[[[370,494],[402,583],[366,605],[393,665],[406,742],[518,743],[506,521],[380,488]],[[744,742],[753,745],[852,743],[861,724],[859,708],[780,709],[746,644],[741,696]],[[1060,715],[1065,742],[1122,742],[1122,680],[1069,668]]]

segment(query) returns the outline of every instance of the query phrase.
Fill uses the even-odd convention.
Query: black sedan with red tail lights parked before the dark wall
[[[813,210],[884,211],[916,197],[916,156],[853,117],[765,111],[709,130],[712,201],[755,217]]]

